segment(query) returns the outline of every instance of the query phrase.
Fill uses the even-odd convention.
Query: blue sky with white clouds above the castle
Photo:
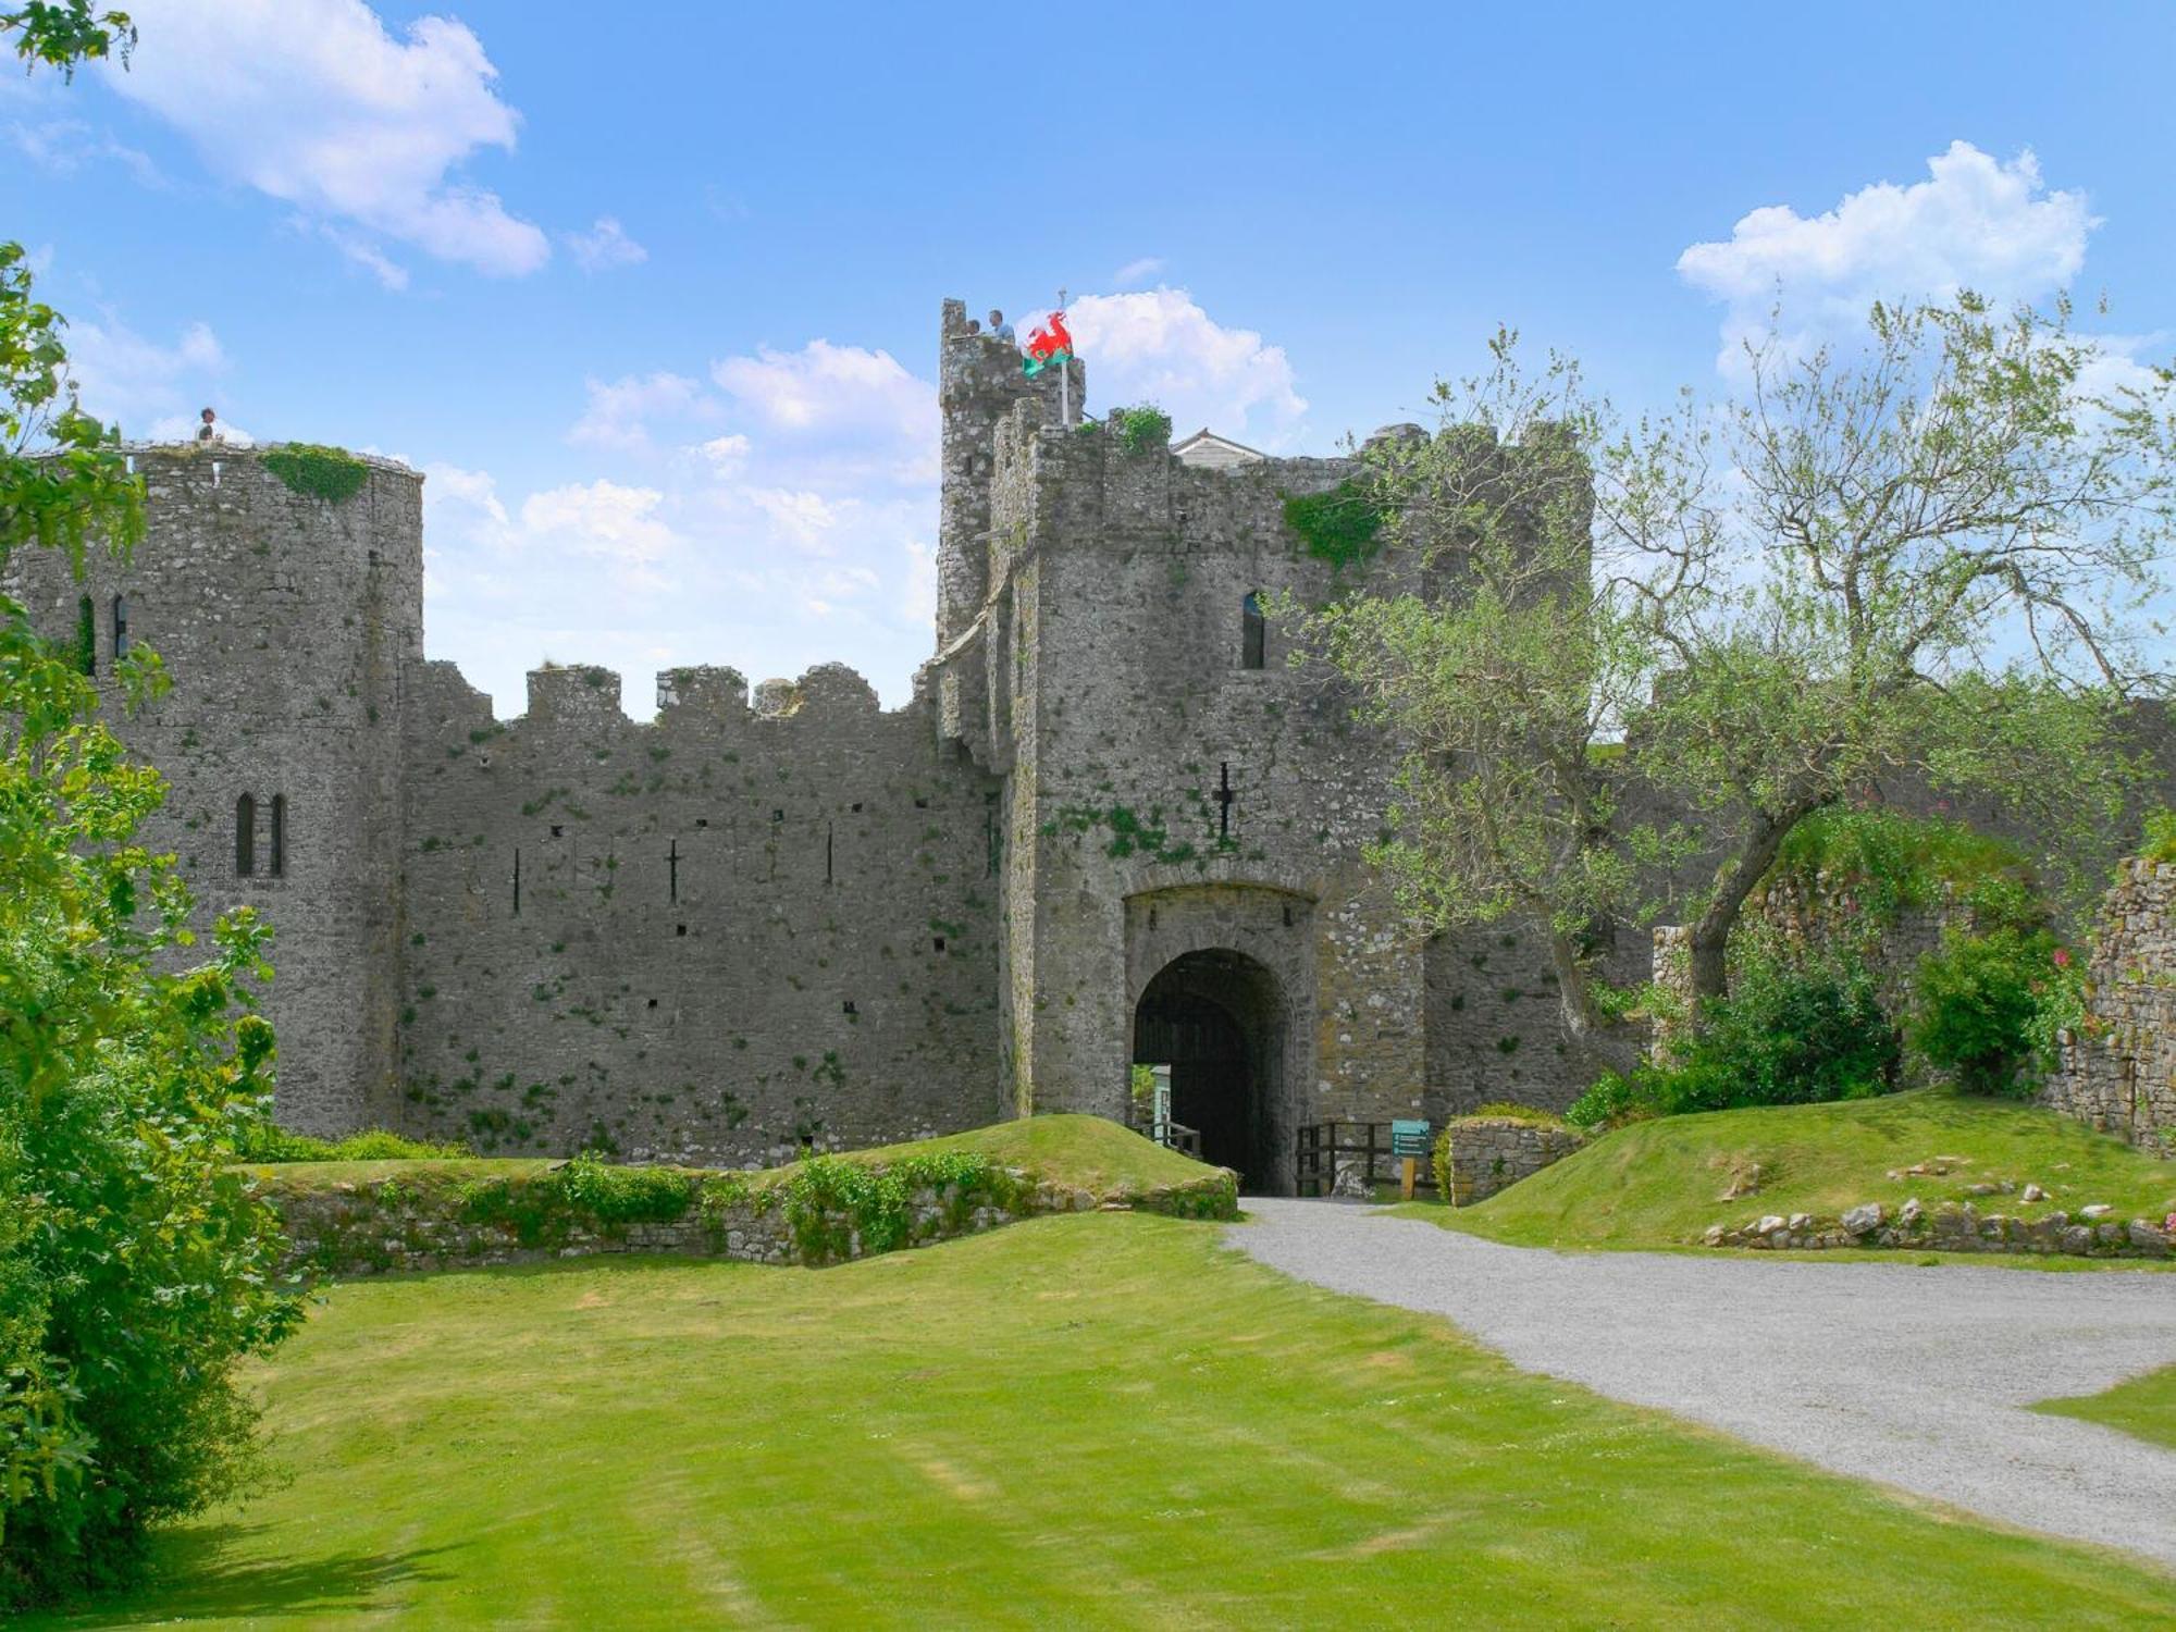
[[[2176,9],[133,0],[0,78],[85,405],[429,472],[429,648],[751,679],[929,651],[938,300],[1077,300],[1090,407],[1279,453],[1508,322],[1619,400],[1780,294],[2069,289],[2176,353]],[[1706,246],[1706,248],[1695,248]]]

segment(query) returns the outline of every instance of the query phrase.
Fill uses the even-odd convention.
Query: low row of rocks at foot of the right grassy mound
[[[1708,1225],[1708,1247],[1756,1247],[1769,1251],[1819,1251],[1823,1247],[1895,1247],[1945,1253],[2069,1253],[2074,1258],[2167,1258],[2169,1221],[2115,1219],[2109,1208],[2078,1214],[2050,1212],[2039,1219],[1982,1214],[1969,1201],[1924,1208],[1906,1201],[1889,1212],[1878,1201],[1850,1208],[1841,1219],[1810,1212],[1747,1219],[1743,1225]]]

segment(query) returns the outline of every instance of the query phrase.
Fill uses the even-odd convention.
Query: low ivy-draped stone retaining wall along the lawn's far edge
[[[592,1253],[679,1253],[753,1264],[829,1264],[897,1247],[925,1247],[1053,1212],[1162,1212],[1182,1219],[1236,1219],[1236,1182],[1214,1169],[1188,1184],[1153,1190],[1081,1190],[992,1169],[973,1186],[918,1186],[905,1192],[897,1238],[866,1240],[851,1210],[794,1206],[783,1186],[731,1184],[740,1175],[692,1175],[679,1216],[609,1219],[542,1195],[555,1173],[507,1182],[437,1177],[424,1164],[396,1177],[324,1186],[272,1184],[292,1242],[287,1269],[302,1275],[481,1269],[490,1264],[585,1258]],[[533,1206],[522,1197],[537,1190]],[[507,1206],[514,1197],[514,1206]],[[511,1214],[511,1216],[509,1216]],[[894,1221],[897,1223],[897,1221]]]

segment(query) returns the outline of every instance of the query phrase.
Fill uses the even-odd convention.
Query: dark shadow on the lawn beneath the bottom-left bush
[[[420,1547],[400,1554],[333,1554],[307,1560],[224,1562],[261,1525],[196,1525],[161,1536],[152,1545],[150,1578],[144,1586],[111,1599],[83,1599],[37,1617],[30,1625],[163,1625],[174,1621],[220,1621],[298,1615],[335,1621],[344,1615],[379,1615],[400,1608],[403,1586],[446,1580],[433,1560],[450,1547]]]

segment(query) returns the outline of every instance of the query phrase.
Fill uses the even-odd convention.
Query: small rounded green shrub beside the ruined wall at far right
[[[1919,960],[1913,999],[1913,1047],[1980,1095],[2030,1095],[2056,1029],[2082,1010],[2069,951],[2017,927],[1945,936]]]

